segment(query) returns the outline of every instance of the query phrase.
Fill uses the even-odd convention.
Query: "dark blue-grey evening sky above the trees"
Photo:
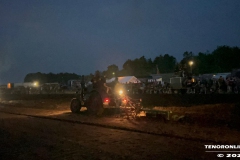
[[[240,0],[0,0],[0,84],[240,46]]]

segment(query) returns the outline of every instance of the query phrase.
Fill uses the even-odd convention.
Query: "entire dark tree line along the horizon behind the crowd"
[[[192,66],[189,62],[192,61]],[[107,78],[114,76],[149,76],[156,73],[173,73],[185,70],[192,74],[206,74],[206,73],[219,73],[219,72],[231,72],[232,69],[240,68],[240,49],[238,47],[219,46],[212,53],[198,53],[195,55],[192,52],[184,52],[183,59],[177,62],[176,58],[169,55],[159,55],[153,60],[146,59],[145,56],[136,58],[134,60],[128,59],[122,66],[122,70],[119,70],[118,66],[112,64],[107,67],[106,71],[101,73],[106,75]],[[93,74],[85,75],[88,79]],[[30,73],[27,74],[24,82],[33,82],[38,80],[39,83],[66,83],[71,79],[79,79],[80,76],[74,73]]]

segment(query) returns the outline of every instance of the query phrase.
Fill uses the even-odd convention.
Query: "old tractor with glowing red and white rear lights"
[[[72,113],[79,113],[81,107],[86,107],[89,114],[97,116],[100,116],[106,108],[114,108],[120,113],[127,111],[134,115],[140,111],[141,99],[135,100],[127,96],[124,85],[116,82],[114,87],[108,89],[108,91],[92,87],[80,89],[76,92],[76,97],[71,100]]]

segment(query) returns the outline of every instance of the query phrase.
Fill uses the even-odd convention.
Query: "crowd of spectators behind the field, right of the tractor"
[[[220,76],[214,78],[187,78],[182,84],[187,94],[239,94],[240,78]],[[125,88],[130,94],[173,94],[174,90],[168,82],[155,81],[146,83],[128,83]]]

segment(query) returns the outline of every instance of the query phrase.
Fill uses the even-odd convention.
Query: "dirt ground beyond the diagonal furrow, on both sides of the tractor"
[[[75,115],[70,114],[69,104],[70,99],[68,98],[59,100],[1,101],[2,106],[7,106],[5,110],[12,111],[11,107],[13,107],[14,111],[19,113],[24,112],[27,108],[28,110],[26,110],[26,112],[29,112],[27,114],[38,115],[41,114],[41,110],[44,111],[44,114],[46,110],[49,110],[49,114],[56,110],[65,111],[69,113],[68,117],[74,120]],[[31,111],[31,109],[33,110]],[[36,109],[38,111],[36,111]],[[238,123],[233,123],[235,120],[232,113],[234,104],[214,104],[192,107],[156,106],[154,109],[171,111],[170,120],[144,116],[127,118],[119,114],[105,114],[98,118],[97,122],[163,135],[213,141],[221,144],[238,144],[240,142]],[[26,114],[26,112],[24,114]],[[81,116],[81,121],[95,123],[95,118],[89,118],[84,112],[81,114],[83,115]],[[179,117],[181,117],[181,119],[179,119]]]

